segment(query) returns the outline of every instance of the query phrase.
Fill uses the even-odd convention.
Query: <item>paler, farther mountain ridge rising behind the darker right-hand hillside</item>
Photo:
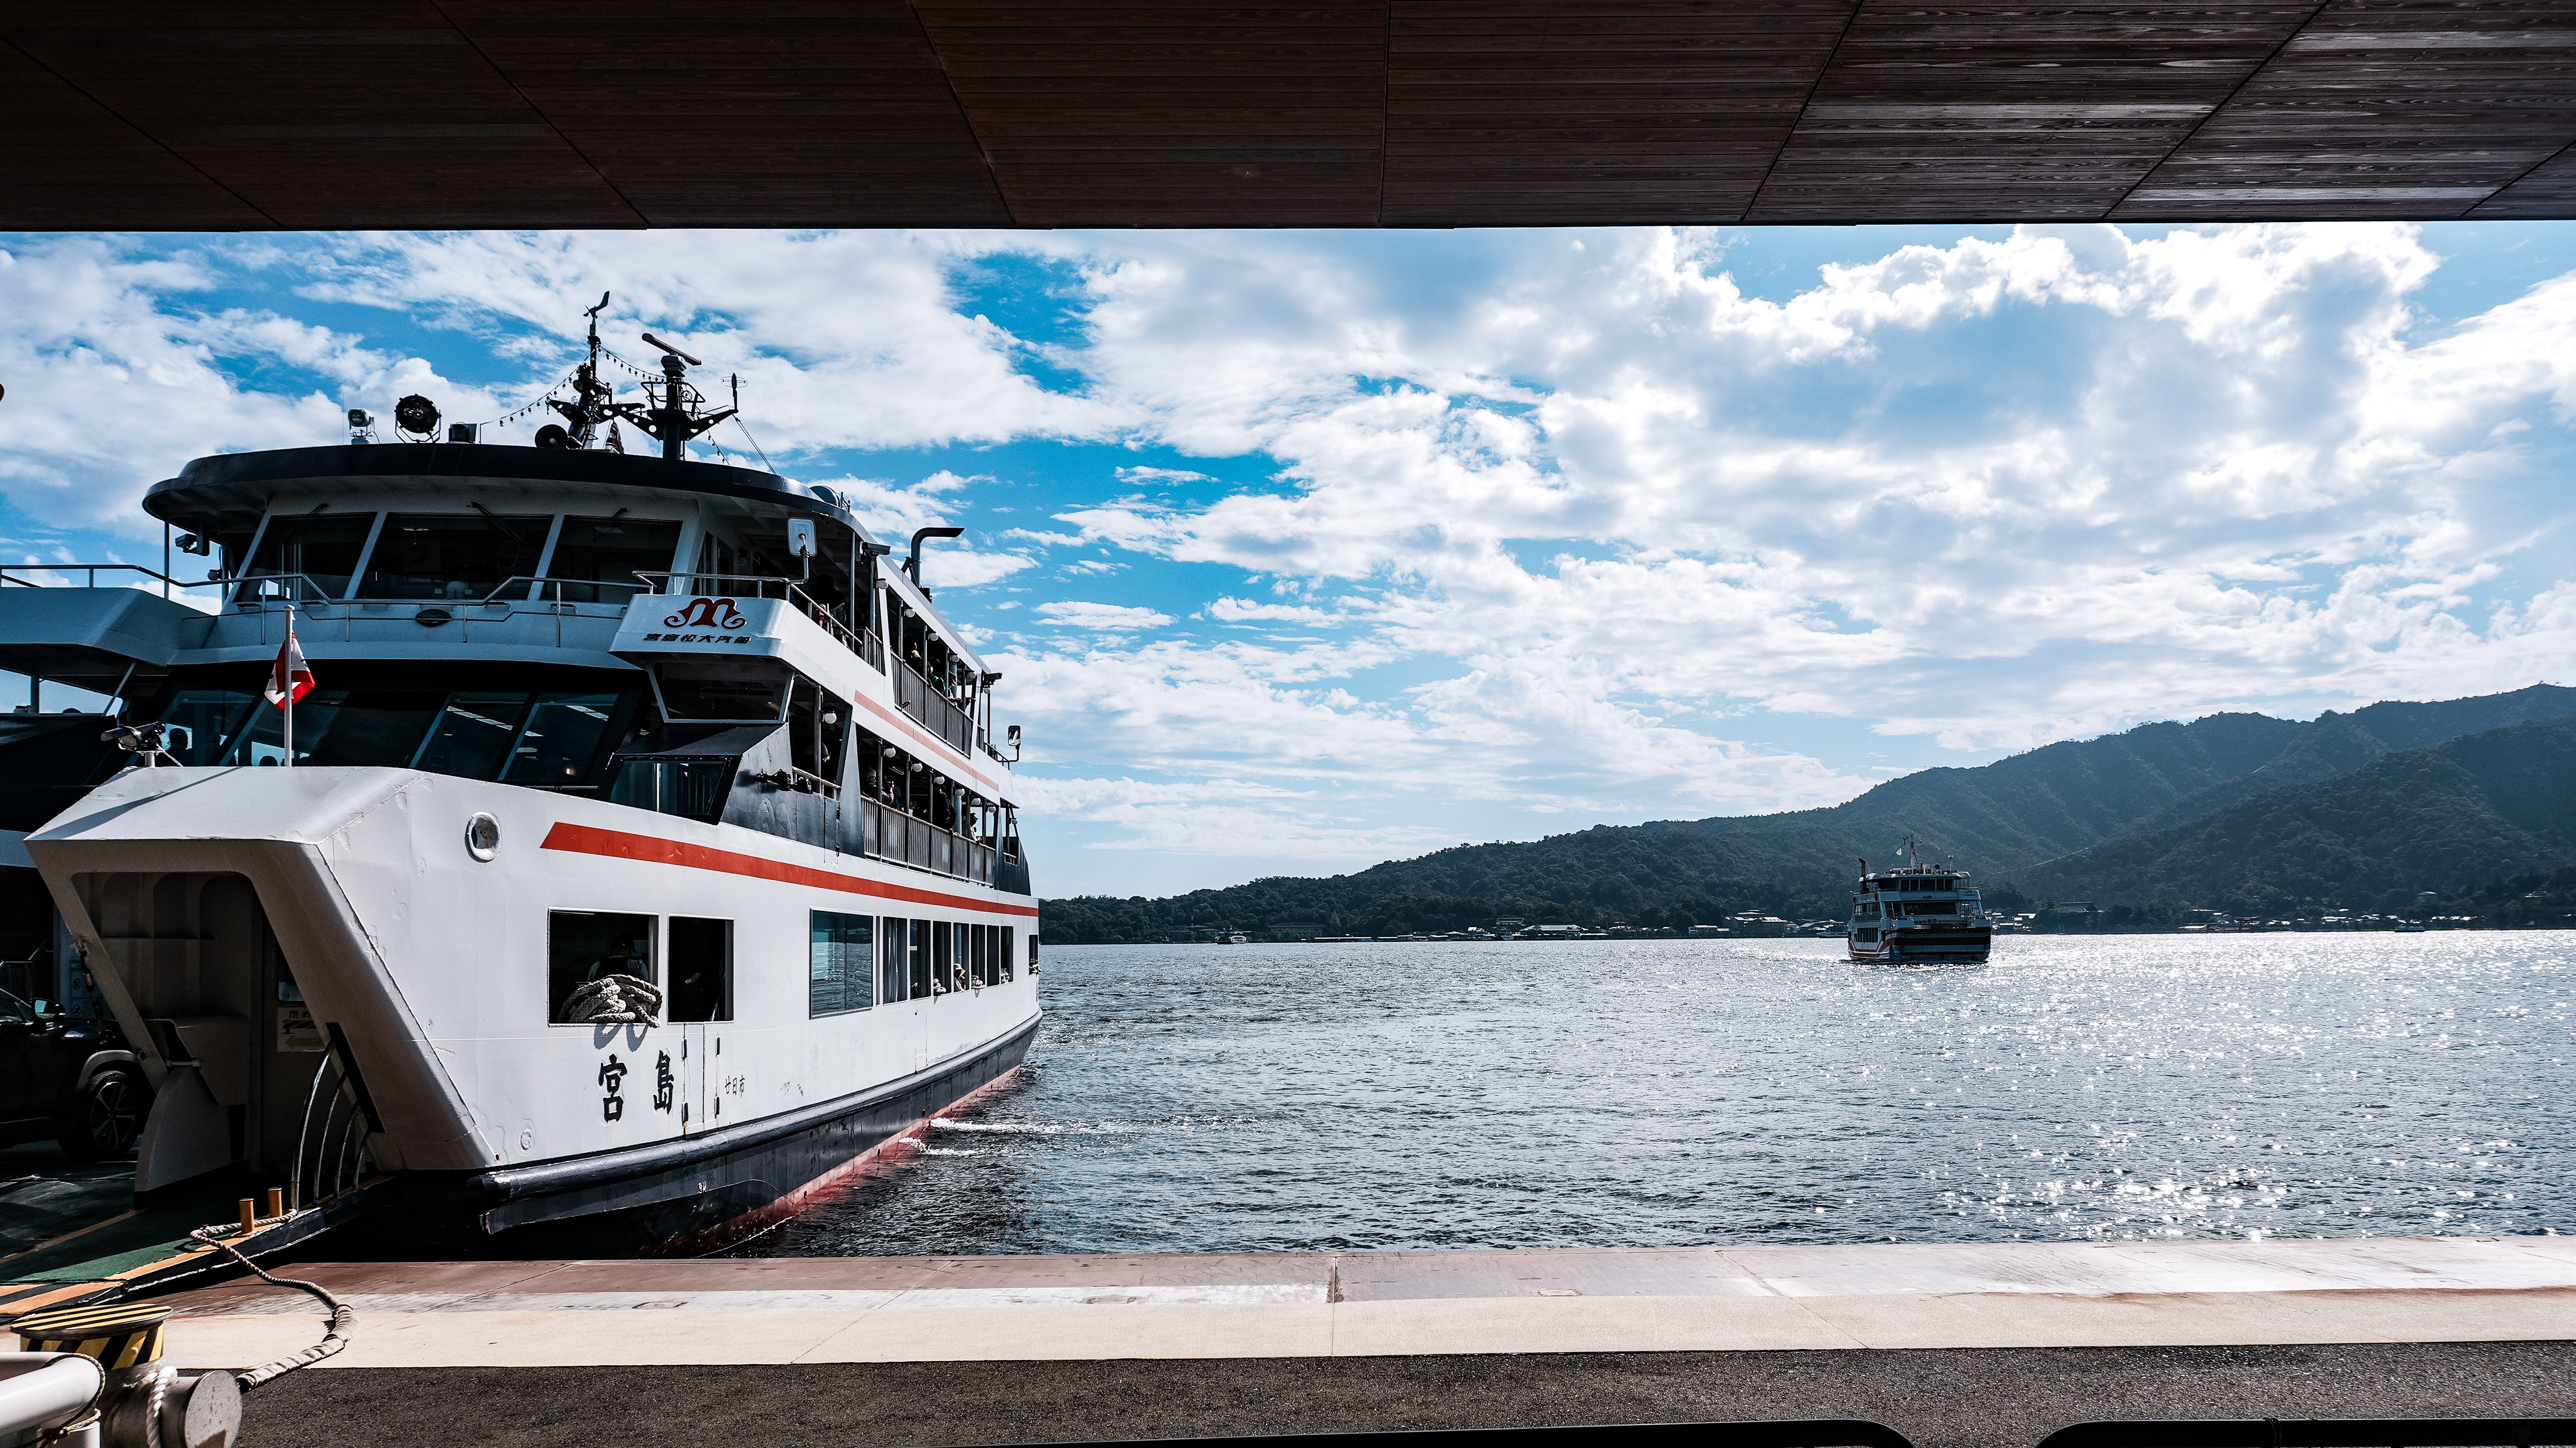
[[[1043,930],[1048,940],[1136,940],[1188,925],[1260,930],[1275,920],[1399,935],[1515,915],[1636,925],[1687,925],[1736,910],[1839,915],[1855,858],[1893,858],[1909,832],[1976,871],[1989,891],[2048,866],[2048,879],[2084,881],[2094,894],[2172,899],[2110,891],[2092,850],[2159,830],[2190,830],[2215,812],[2269,799],[2285,786],[2342,778],[2393,752],[2566,716],[2576,716],[2576,688],[2558,685],[2442,703],[2372,703],[2308,724],[2213,714],[2192,724],[2141,724],[2125,734],[2048,745],[1984,768],[1919,770],[1832,809],[1602,824],[1533,843],[1458,845],[1347,876],[1275,876],[1170,899],[1048,899]],[[2187,848],[2177,840],[2169,850]],[[2200,848],[2215,848],[2215,840]],[[2290,889],[2295,871],[2272,873]],[[2169,879],[2164,873],[2136,879],[2141,891],[2179,889],[2159,884]]]

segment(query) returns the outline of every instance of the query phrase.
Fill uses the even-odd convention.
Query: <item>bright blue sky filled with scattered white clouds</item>
[[[2568,224],[0,237],[0,551],[510,412],[600,291],[969,528],[1043,894],[2576,672]]]

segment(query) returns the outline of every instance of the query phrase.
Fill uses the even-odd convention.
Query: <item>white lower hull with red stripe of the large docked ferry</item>
[[[155,1118],[193,1103],[162,1131],[188,1159],[147,1152],[142,1185],[224,1165],[312,1183],[317,1118],[335,1170],[394,1175],[394,1214],[438,1237],[744,1237],[1007,1080],[1041,1023],[1028,897],[605,801],[384,768],[126,770],[28,850],[144,1043]],[[649,940],[721,920],[724,1018],[551,1020],[549,920],[608,912]],[[871,1000],[817,1005],[822,922],[873,922]],[[956,956],[956,989],[891,992],[899,940],[920,969],[925,940],[963,951],[971,928],[994,979]]]

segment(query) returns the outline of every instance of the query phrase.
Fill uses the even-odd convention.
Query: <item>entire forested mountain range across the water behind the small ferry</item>
[[[1458,845],[1350,876],[1278,876],[1170,899],[1048,899],[1043,933],[1061,943],[1162,938],[1190,925],[1262,930],[1278,920],[1396,935],[1497,917],[1685,925],[1736,910],[1839,915],[1855,858],[1893,858],[1909,832],[1976,871],[1989,891],[2027,876],[2025,884],[2045,879],[2061,894],[2081,889],[2141,904],[2218,904],[2215,894],[2239,891],[2272,904],[2324,904],[2331,894],[2360,907],[2375,899],[2370,891],[2403,886],[2411,897],[2427,884],[2468,886],[2499,868],[2576,855],[2550,843],[2561,837],[2553,824],[2519,824],[2519,814],[2506,814],[2509,801],[2486,794],[2504,778],[2501,755],[2458,750],[2403,763],[2465,734],[2514,734],[2514,724],[2568,716],[2576,688],[2555,685],[2372,703],[2306,724],[2213,714],[2048,745],[1984,768],[1922,770],[1832,809],[1602,824],[1530,843]],[[2545,737],[2543,729],[2496,747],[2548,755]],[[2349,794],[2298,794],[2344,781]],[[2478,804],[2445,804],[2445,788],[2470,791]],[[2378,845],[2367,827],[2375,794],[2393,796],[2393,824]],[[2517,832],[2496,835],[2496,822]],[[2465,848],[2481,827],[2488,863]],[[2362,868],[2362,855],[2375,863]]]

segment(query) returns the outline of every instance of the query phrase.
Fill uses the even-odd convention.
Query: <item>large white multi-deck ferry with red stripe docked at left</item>
[[[152,1085],[139,1190],[719,1244],[1018,1069],[1020,732],[920,585],[956,528],[886,567],[829,487],[688,461],[732,410],[654,345],[613,402],[592,330],[541,446],[410,397],[404,441],[191,461],[144,510],[214,613],[10,569],[0,667],[116,706],[0,732],[44,886],[0,902]]]

